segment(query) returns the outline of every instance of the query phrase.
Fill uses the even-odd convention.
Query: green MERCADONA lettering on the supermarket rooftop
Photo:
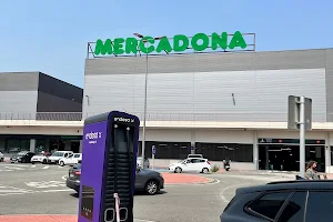
[[[113,41],[107,39],[105,41],[99,39],[95,42],[94,56],[105,54],[135,54],[139,50],[143,53],[153,52],[184,52],[188,49],[194,51],[211,50],[234,50],[245,49],[248,47],[243,34],[239,31],[233,34],[226,32],[212,33],[211,36],[204,33],[196,33],[192,38],[184,34],[176,34],[172,39],[167,37],[155,40],[152,37],[143,37],[138,40],[135,38],[115,38]]]

